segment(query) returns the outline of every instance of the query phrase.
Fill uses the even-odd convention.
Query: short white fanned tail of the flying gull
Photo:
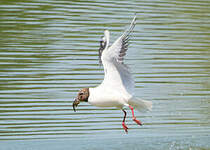
[[[139,112],[152,110],[152,102],[133,97],[128,104],[136,108]]]

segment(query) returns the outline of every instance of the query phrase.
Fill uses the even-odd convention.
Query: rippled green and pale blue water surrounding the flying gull
[[[113,137],[120,145],[121,140],[135,144],[141,138],[144,149],[209,148],[209,7],[208,1],[192,0],[4,1],[0,140],[93,138],[100,144],[94,139]],[[136,95],[151,100],[154,109],[138,114],[143,127],[130,117],[129,134],[124,135],[120,110],[83,103],[74,113],[71,104],[80,88],[103,79],[97,50],[104,29],[113,41],[134,12],[138,23],[126,63],[135,77]]]

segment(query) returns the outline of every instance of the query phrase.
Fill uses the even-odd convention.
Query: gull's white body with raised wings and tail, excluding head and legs
[[[101,55],[104,66],[104,80],[95,87],[89,88],[88,102],[98,107],[117,107],[123,109],[124,106],[134,106],[139,111],[149,110],[152,103],[134,97],[134,80],[126,65],[123,64],[128,46],[128,36],[135,25],[134,17],[131,26],[122,36],[120,36],[109,47],[109,31],[104,32],[106,45]]]

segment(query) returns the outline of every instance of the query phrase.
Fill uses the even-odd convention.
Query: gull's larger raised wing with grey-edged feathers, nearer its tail
[[[123,58],[128,50],[129,38],[136,24],[136,16],[130,27],[109,48],[102,52],[101,60],[104,66],[105,77],[103,83],[115,88],[123,88],[130,94],[134,91],[134,80],[128,67],[123,64]]]

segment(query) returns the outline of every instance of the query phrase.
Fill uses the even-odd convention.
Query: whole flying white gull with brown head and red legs
[[[109,31],[104,31],[99,48],[99,63],[104,67],[104,80],[97,87],[81,89],[73,102],[75,112],[80,102],[88,102],[97,107],[121,109],[124,113],[122,127],[126,133],[128,127],[125,124],[127,115],[125,108],[131,109],[133,121],[138,125],[142,125],[142,122],[136,119],[134,108],[140,112],[152,109],[152,102],[134,96],[134,79],[128,66],[123,62],[135,24],[136,15],[130,27],[112,45],[109,42]]]

